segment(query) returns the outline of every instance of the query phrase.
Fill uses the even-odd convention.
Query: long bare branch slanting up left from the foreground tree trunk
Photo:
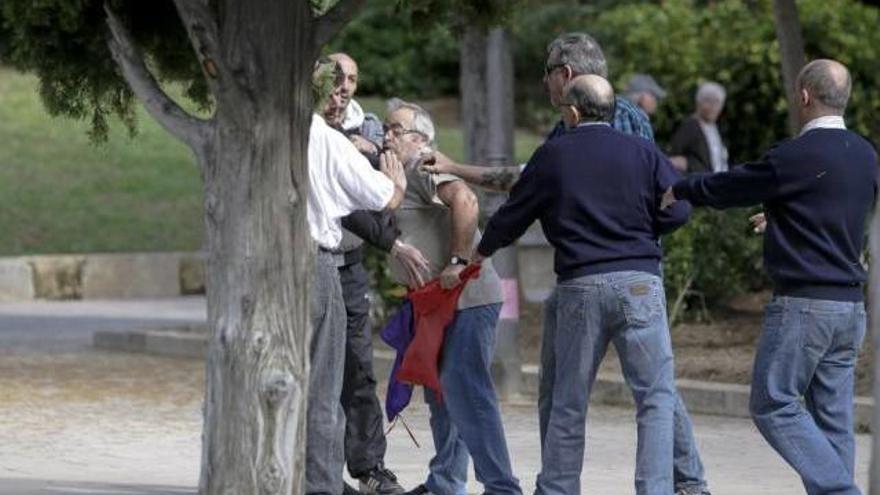
[[[107,45],[134,94],[165,130],[200,153],[207,142],[211,122],[190,115],[162,91],[128,30],[106,4],[104,10],[112,34]]]

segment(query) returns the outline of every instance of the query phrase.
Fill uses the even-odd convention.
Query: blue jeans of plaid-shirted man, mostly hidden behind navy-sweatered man
[[[664,307],[665,307],[664,295]],[[550,409],[553,407],[553,384],[556,376],[556,303],[554,290],[544,302],[544,334],[541,341],[541,368],[538,384],[538,414],[541,446],[547,432]],[[684,402],[678,391],[675,392],[675,411],[673,414],[673,482],[675,489],[706,488],[706,479],[697,443],[694,440],[694,427]],[[543,451],[542,451],[543,453]]]

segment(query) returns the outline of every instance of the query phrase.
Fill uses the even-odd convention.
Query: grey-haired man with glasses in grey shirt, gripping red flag
[[[425,254],[432,276],[439,276],[443,287],[455,287],[480,239],[477,198],[456,177],[419,170],[421,160],[436,148],[434,124],[423,108],[391,100],[385,124],[385,145],[407,174],[406,194],[395,212],[401,239]],[[399,282],[406,283],[405,272],[394,259],[391,269]],[[425,392],[436,453],[428,479],[411,494],[466,493],[468,454],[485,493],[522,493],[511,469],[491,374],[501,299],[498,274],[486,263],[479,277],[467,282],[446,329],[440,363],[442,402]]]

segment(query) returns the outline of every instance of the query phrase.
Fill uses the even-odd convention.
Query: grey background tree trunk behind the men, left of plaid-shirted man
[[[465,158],[489,166],[513,164],[513,57],[507,32],[495,28],[486,33],[468,26],[461,43],[461,94]],[[504,194],[482,194],[484,218],[506,199]],[[492,262],[501,277],[504,305],[498,322],[496,364],[500,370],[498,390],[509,398],[520,392],[522,360],[519,351],[519,285],[516,247],[498,251]]]

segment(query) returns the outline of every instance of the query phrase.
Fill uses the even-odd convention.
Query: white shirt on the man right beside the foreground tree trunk
[[[309,231],[325,249],[342,241],[342,217],[356,210],[381,210],[394,195],[391,179],[317,114],[309,130],[309,182]]]

